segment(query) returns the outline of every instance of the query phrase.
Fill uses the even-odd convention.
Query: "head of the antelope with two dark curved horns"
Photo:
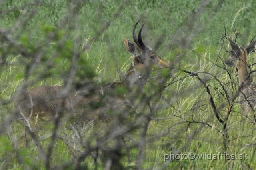
[[[140,22],[140,20],[138,22]],[[133,75],[136,70],[152,69],[154,67],[167,67],[169,65],[169,62],[160,58],[156,52],[151,48],[148,48],[142,41],[141,32],[145,23],[141,26],[137,38],[135,29],[138,22],[134,25],[132,32],[133,40],[136,44],[124,38],[124,44],[128,52],[134,55],[133,62],[129,68],[127,76]]]

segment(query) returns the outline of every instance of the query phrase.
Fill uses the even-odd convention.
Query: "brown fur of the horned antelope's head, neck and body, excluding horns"
[[[14,108],[17,112],[22,112],[26,118],[32,112],[31,124],[35,124],[35,120],[49,120],[54,116],[66,116],[71,120],[77,120],[76,116],[80,116],[79,120],[92,120],[102,117],[107,119],[108,108],[118,110],[124,107],[124,98],[115,95],[103,95],[108,91],[112,91],[116,86],[129,87],[138,81],[140,71],[142,69],[153,69],[154,67],[168,66],[169,62],[163,60],[155,54],[153,50],[143,51],[136,44],[124,38],[124,44],[128,52],[134,55],[133,62],[126,74],[126,77],[119,82],[113,82],[100,88],[94,88],[89,92],[80,92],[71,90],[68,96],[61,96],[64,86],[40,86],[27,90],[24,94],[18,96],[14,101]],[[139,60],[138,60],[139,59]],[[132,82],[132,83],[131,83]],[[88,91],[88,90],[87,90]],[[31,102],[33,105],[31,105]],[[99,105],[99,106],[98,106]],[[31,111],[32,109],[32,111]],[[74,119],[72,119],[75,117]]]

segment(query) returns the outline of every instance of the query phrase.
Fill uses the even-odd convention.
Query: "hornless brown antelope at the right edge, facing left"
[[[228,66],[236,65],[237,67],[239,86],[242,86],[238,102],[241,104],[244,113],[254,112],[256,106],[256,83],[249,75],[247,62],[248,55],[253,51],[256,41],[249,44],[246,48],[240,48],[229,38],[228,41],[232,51],[231,55],[225,59],[225,64]]]

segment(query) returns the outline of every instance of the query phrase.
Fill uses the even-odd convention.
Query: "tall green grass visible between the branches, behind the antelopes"
[[[191,22],[196,23],[195,26],[204,27],[204,29],[196,34],[192,40],[191,45],[186,48],[182,61],[180,62],[180,68],[193,71],[206,71],[216,75],[219,80],[226,84],[226,88],[232,93],[230,87],[230,79],[227,73],[220,67],[216,67],[212,62],[220,66],[224,66],[224,57],[227,57],[225,50],[223,49],[222,37],[225,34],[224,24],[226,26],[226,35],[234,38],[234,30],[237,35],[237,43],[244,47],[252,38],[256,35],[256,1],[247,0],[243,1],[231,1],[226,0],[216,12],[214,8],[219,1],[212,0],[205,11],[200,16],[199,20],[192,18]],[[2,15],[0,19],[0,26],[4,29],[11,29],[15,27],[15,23],[24,12],[24,8],[27,4],[30,4],[29,0],[16,1],[6,0],[1,2],[1,10],[8,10],[9,12]],[[55,29],[60,21],[65,17],[68,12],[68,6],[70,2],[67,0],[46,0],[37,7],[36,14],[26,24],[25,29],[20,28],[22,33],[20,34],[19,29],[14,33],[14,36],[19,36],[20,43],[24,46],[34,50],[38,45],[37,42],[44,40],[48,36],[48,30]],[[176,55],[182,47],[180,44],[175,43],[175,34],[182,26],[184,26],[187,20],[190,18],[192,12],[196,11],[202,4],[200,0],[183,0],[183,1],[168,1],[168,0],[138,0],[138,1],[112,1],[112,0],[94,0],[88,1],[81,7],[78,16],[74,20],[74,25],[78,26],[78,29],[71,31],[71,35],[74,37],[81,37],[84,39],[84,44],[92,37],[95,37],[105,22],[111,20],[116,12],[118,12],[120,6],[124,6],[116,19],[111,22],[108,28],[94,40],[90,47],[90,50],[84,52],[83,58],[87,60],[89,66],[81,65],[78,69],[83,72],[84,70],[90,70],[94,72],[104,82],[112,82],[117,80],[119,75],[126,72],[130,66],[132,60],[130,53],[124,46],[123,39],[128,38],[132,40],[132,28],[134,24],[142,19],[146,21],[144,27],[144,41],[150,48],[154,48],[158,54],[169,62],[176,61]],[[26,18],[27,16],[24,16]],[[208,18],[210,17],[210,20]],[[141,24],[141,23],[140,23]],[[60,30],[60,34],[65,35],[69,28]],[[182,36],[190,32],[192,28],[185,28],[184,32],[179,34],[177,41],[189,41],[190,37],[186,37],[182,40]],[[50,31],[49,31],[50,32]],[[183,35],[182,35],[183,34]],[[190,34],[188,34],[190,35]],[[254,39],[255,40],[255,39]],[[173,42],[174,41],[174,42]],[[159,43],[161,42],[160,46]],[[167,48],[168,44],[172,42],[172,46]],[[227,42],[224,39],[224,42]],[[69,42],[73,44],[72,39]],[[47,69],[48,60],[52,55],[56,54],[55,42],[45,42],[43,46],[47,46],[49,49],[44,56],[41,64],[36,68],[33,76],[36,76],[42,70]],[[81,48],[83,44],[79,44]],[[66,48],[69,45],[67,43]],[[228,48],[228,44],[226,44]],[[52,49],[52,50],[51,50]],[[1,51],[3,54],[3,50]],[[15,62],[20,60],[20,55],[8,54],[7,60]],[[55,68],[51,68],[49,73],[51,76],[42,78],[39,81],[31,85],[60,85],[64,84],[63,79],[65,71],[70,67],[70,59],[58,57]],[[217,57],[219,56],[219,58]],[[255,63],[255,54],[250,54],[250,63]],[[210,62],[212,61],[212,62]],[[29,62],[29,61],[25,61]],[[253,68],[251,68],[254,70]],[[86,72],[87,72],[86,71]],[[19,65],[4,66],[0,68],[0,85],[1,92],[0,96],[2,100],[6,100],[12,96],[15,90],[22,82],[22,78],[26,72],[26,68]],[[234,81],[236,81],[235,69],[232,70],[234,73]],[[176,72],[177,76],[184,76],[184,73]],[[207,76],[207,75],[206,75]],[[97,79],[97,78],[96,78]],[[172,78],[170,78],[170,82]],[[214,94],[214,100],[220,106],[222,102],[225,102],[226,98],[222,96],[220,85],[216,81],[210,81],[209,85],[212,87]],[[195,88],[196,87],[196,88]],[[217,89],[217,90],[216,90]],[[235,89],[235,88],[234,88]],[[221,130],[222,125],[213,117],[212,108],[209,105],[208,94],[205,93],[205,89],[198,83],[193,77],[183,79],[181,82],[172,84],[166,88],[166,98],[174,98],[173,94],[177,91],[183,92],[177,102],[174,102],[173,107],[167,107],[158,112],[158,116],[165,117],[176,111],[174,108],[182,106],[182,110],[176,115],[176,117],[167,120],[151,122],[148,135],[160,132],[162,129],[170,128],[170,133],[178,134],[175,136],[165,136],[159,140],[150,143],[145,150],[145,162],[144,168],[156,169],[158,166],[164,164],[164,154],[174,152],[176,148],[180,148],[184,145],[186,150],[184,152],[195,152],[198,154],[206,152],[207,154],[212,152],[218,154],[223,153],[223,140]],[[175,100],[175,99],[173,99]],[[199,108],[199,109],[198,109]],[[12,104],[2,107],[1,118],[4,119],[10,114],[12,110]],[[194,111],[193,111],[194,110]],[[228,139],[230,144],[230,152],[236,154],[245,152],[248,154],[249,160],[230,160],[232,169],[244,169],[244,166],[250,165],[250,168],[256,168],[255,159],[255,146],[251,146],[255,143],[255,126],[244,120],[239,114],[241,112],[239,106],[235,106],[234,112],[232,112],[228,123]],[[220,114],[225,116],[226,108],[220,110]],[[210,120],[209,120],[210,119]],[[196,123],[179,124],[173,126],[176,123],[185,120],[196,120],[201,122],[209,122],[209,126],[201,126]],[[189,136],[195,132],[196,129],[202,128],[200,132],[189,142]],[[22,131],[22,127],[18,124],[11,126],[11,132],[18,133]],[[7,136],[7,135],[6,135]],[[0,157],[1,160],[10,156],[12,161],[6,167],[23,169],[19,163],[19,160],[15,159],[12,155],[13,145],[10,144],[9,138],[6,136],[0,136]],[[10,136],[10,135],[9,135]],[[47,140],[44,141],[47,143]],[[187,143],[188,142],[188,143]],[[172,143],[170,145],[170,143]],[[251,147],[246,147],[249,144]],[[35,147],[21,148],[20,153],[24,154],[26,164],[35,166],[35,169],[44,169],[43,162],[34,164],[33,156],[36,155]],[[58,164],[66,162],[70,159],[70,153],[65,147],[64,142],[58,141],[55,152],[52,156],[52,162]],[[128,163],[128,160],[124,159],[123,164],[127,167],[135,164],[134,160],[136,157],[136,149],[132,150],[131,157],[132,163]],[[8,155],[10,154],[10,155]],[[33,156],[28,156],[33,155]],[[4,164],[2,162],[1,164]],[[89,169],[94,167],[93,160],[85,160],[84,164]],[[173,169],[223,169],[225,167],[225,160],[180,160],[175,161],[168,166]],[[103,169],[103,163],[100,162],[99,169]]]

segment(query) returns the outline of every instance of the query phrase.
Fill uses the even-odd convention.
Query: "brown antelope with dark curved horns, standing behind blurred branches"
[[[134,82],[141,79],[142,75],[140,71],[142,69],[150,70],[152,69],[152,66],[163,67],[169,65],[169,62],[156,55],[156,53],[152,49],[148,48],[142,41],[141,32],[144,24],[140,28],[137,38],[135,29],[138,22],[133,28],[133,39],[136,44],[124,38],[124,44],[128,52],[134,55],[128,73],[126,74],[124,80],[108,84],[108,86],[103,89],[107,90],[109,88],[114,88],[118,85],[127,84],[127,82],[129,83],[129,86],[131,86],[131,84],[134,84]],[[88,114],[85,106],[91,102],[100,102],[102,93],[100,94],[99,92],[94,92],[95,94],[89,96],[88,94],[85,95],[83,92],[72,90],[68,93],[68,96],[63,98],[60,96],[63,89],[64,86],[39,86],[31,88],[16,98],[14,101],[14,108],[16,112],[19,112],[22,115],[21,119],[25,120],[27,118],[34,117],[37,118],[37,120],[43,119],[44,121],[44,119],[57,116],[58,113],[62,112],[63,110],[83,113],[83,116],[85,117],[84,119],[88,120],[98,116],[98,114],[96,114],[97,111],[95,110],[93,111],[93,115]],[[113,104],[113,99],[107,98],[106,100],[108,100],[108,106]],[[121,101],[124,103],[124,99]],[[120,100],[118,104],[120,104]],[[105,107],[106,106],[104,106],[104,108]],[[33,124],[34,122],[36,121],[31,121],[30,124]],[[28,122],[26,122],[26,125],[27,124]]]

